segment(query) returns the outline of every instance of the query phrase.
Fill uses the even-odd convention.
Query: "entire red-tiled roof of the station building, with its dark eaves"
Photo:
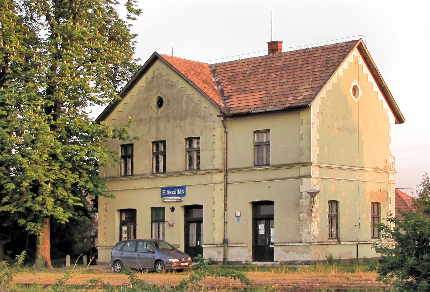
[[[402,113],[361,39],[213,65],[154,52],[119,95],[124,98],[159,59],[224,115],[304,108],[310,106],[355,48],[378,83],[396,123],[404,123]],[[119,103],[119,100],[113,101],[95,121],[104,120]]]

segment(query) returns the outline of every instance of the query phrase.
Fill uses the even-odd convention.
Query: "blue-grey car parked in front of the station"
[[[123,240],[112,249],[111,266],[115,273],[124,267],[139,270],[155,270],[161,274],[166,270],[182,272],[192,266],[189,255],[159,239]]]

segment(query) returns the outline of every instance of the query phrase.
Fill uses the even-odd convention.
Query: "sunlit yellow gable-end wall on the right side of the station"
[[[358,100],[351,96],[353,84],[360,89]],[[346,258],[352,251],[345,246],[354,241],[378,241],[370,238],[372,202],[381,203],[381,218],[394,212],[395,120],[357,49],[314,100],[311,111],[312,179],[320,190],[312,238],[319,243],[350,243],[341,245],[346,251],[323,245],[317,252],[313,246],[312,258],[321,259],[324,248]],[[338,240],[328,238],[329,200],[339,201]],[[375,256],[373,251],[360,253],[360,247],[360,257]]]

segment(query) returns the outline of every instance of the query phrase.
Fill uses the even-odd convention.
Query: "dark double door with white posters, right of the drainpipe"
[[[253,204],[253,260],[274,261],[275,205],[273,201]]]

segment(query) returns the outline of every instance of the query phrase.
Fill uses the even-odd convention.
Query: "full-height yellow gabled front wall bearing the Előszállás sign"
[[[157,108],[157,97],[164,99]],[[223,127],[219,110],[163,62],[156,61],[136,86],[107,117],[113,126],[131,117],[133,141],[109,141],[120,152],[120,145],[134,144],[134,175],[120,177],[119,166],[102,168],[107,193],[114,199],[99,199],[99,261],[110,258],[109,247],[119,240],[120,209],[136,209],[137,238],[151,237],[151,207],[164,206],[166,240],[184,249],[184,206],[203,205],[203,245],[222,244],[224,236]],[[200,137],[200,171],[185,170],[185,138]],[[166,140],[166,173],[152,174],[152,141]],[[182,202],[165,203],[160,187],[187,186]],[[170,207],[175,212],[170,212]],[[106,247],[106,248],[104,248]],[[215,251],[217,254],[217,251]],[[222,259],[222,256],[221,256]]]

